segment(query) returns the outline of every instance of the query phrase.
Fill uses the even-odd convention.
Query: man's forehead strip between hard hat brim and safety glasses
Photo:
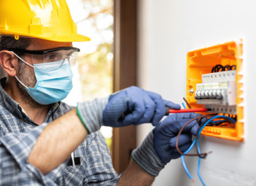
[[[56,42],[44,39],[30,39],[30,45],[26,50],[48,50],[52,48],[72,47],[71,42]]]

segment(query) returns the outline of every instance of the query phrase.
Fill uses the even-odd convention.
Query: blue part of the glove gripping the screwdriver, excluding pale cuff
[[[181,109],[180,105],[163,100],[159,94],[132,86],[109,97],[103,112],[103,125],[123,127],[152,123],[155,126],[165,116],[165,106]]]

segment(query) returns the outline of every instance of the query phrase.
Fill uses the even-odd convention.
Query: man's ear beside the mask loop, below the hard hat
[[[9,76],[16,76],[18,70],[18,59],[8,50],[0,51],[0,64]]]

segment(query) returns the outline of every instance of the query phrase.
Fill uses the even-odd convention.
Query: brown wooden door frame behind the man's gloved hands
[[[137,1],[113,2],[113,92],[136,85]],[[113,128],[113,167],[120,174],[136,148],[136,127]]]

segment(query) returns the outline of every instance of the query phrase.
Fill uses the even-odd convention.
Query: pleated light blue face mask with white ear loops
[[[19,57],[19,59],[21,58]],[[26,63],[23,59],[21,60]],[[26,64],[30,65],[29,63]],[[62,101],[66,98],[73,87],[73,73],[71,71],[71,66],[68,63],[68,59],[51,63],[39,63],[30,66],[34,68],[35,77],[37,79],[35,87],[26,87],[24,83],[19,81],[17,76],[15,77],[21,85],[26,87],[28,94],[30,94],[37,103],[48,105]]]

